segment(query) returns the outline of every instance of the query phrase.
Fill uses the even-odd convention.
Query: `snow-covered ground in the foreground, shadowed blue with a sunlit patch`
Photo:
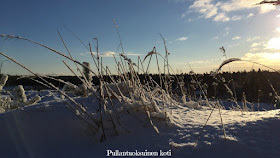
[[[165,152],[166,157],[253,157],[280,156],[280,110],[240,112],[170,106],[170,122],[153,119],[160,134],[140,112],[121,113],[121,122],[128,129],[120,135],[107,134],[99,142],[89,126],[71,112],[65,102],[54,98],[51,91],[29,91],[28,97],[39,94],[39,104],[0,114],[0,157],[3,158],[99,158],[119,152]],[[98,106],[92,98],[75,98],[87,105]],[[113,133],[113,132],[112,132]],[[196,145],[197,142],[197,145]],[[122,157],[122,156],[119,156]],[[128,156],[129,157],[129,156]]]

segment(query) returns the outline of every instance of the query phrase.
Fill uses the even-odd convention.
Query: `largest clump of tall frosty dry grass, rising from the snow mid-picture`
[[[86,94],[93,95],[94,97],[99,99],[99,108],[97,110],[97,111],[99,111],[99,118],[97,118],[97,119],[95,118],[95,116],[90,114],[83,105],[77,103],[73,98],[71,98],[69,95],[67,95],[64,91],[59,90],[53,84],[47,82],[44,79],[45,77],[47,77],[47,78],[51,78],[51,77],[35,74],[32,70],[28,69],[23,64],[17,62],[15,59],[5,55],[4,53],[0,52],[0,54],[5,56],[9,60],[13,61],[14,63],[18,64],[22,68],[26,69],[27,71],[32,73],[34,76],[39,77],[42,80],[40,82],[42,82],[43,84],[45,84],[48,87],[51,87],[51,88],[57,90],[59,93],[61,93],[67,99],[69,99],[73,105],[66,103],[67,107],[76,116],[78,116],[81,120],[83,120],[88,125],[90,125],[96,133],[100,133],[100,131],[101,131],[100,141],[106,140],[106,127],[108,126],[107,125],[108,120],[109,120],[109,122],[111,122],[112,128],[115,130],[116,134],[120,134],[122,131],[121,129],[125,129],[119,119],[120,118],[119,112],[116,110],[116,107],[111,99],[112,96],[115,96],[116,98],[118,98],[118,101],[123,105],[123,108],[127,111],[131,111],[131,110],[134,111],[136,109],[137,109],[137,111],[139,111],[140,109],[142,109],[145,112],[150,125],[154,128],[156,133],[159,134],[159,130],[154,125],[153,119],[161,116],[161,113],[164,113],[165,119],[168,119],[167,114],[166,114],[166,112],[162,112],[158,108],[157,103],[154,101],[154,98],[156,96],[152,95],[152,92],[155,87],[150,87],[150,86],[145,87],[141,84],[138,73],[136,73],[136,71],[134,69],[134,66],[137,66],[137,65],[135,63],[133,63],[131,59],[129,59],[124,53],[122,53],[122,54],[120,54],[121,62],[117,62],[117,60],[116,60],[116,63],[118,66],[118,73],[119,73],[119,76],[121,79],[119,82],[117,82],[111,77],[111,75],[109,73],[109,69],[107,67],[105,68],[103,66],[102,58],[99,58],[99,56],[96,57],[92,54],[94,65],[96,66],[96,68],[98,70],[97,73],[95,73],[90,68],[89,63],[85,63],[85,62],[81,63],[81,62],[73,59],[71,56],[71,53],[68,50],[66,44],[64,43],[64,40],[60,33],[59,33],[59,35],[60,35],[61,40],[63,41],[65,48],[67,49],[69,56],[67,56],[57,50],[54,50],[46,45],[40,44],[38,42],[29,40],[26,38],[12,36],[12,35],[1,35],[1,37],[15,38],[15,39],[21,39],[21,40],[26,40],[26,41],[32,42],[34,44],[45,47],[45,48],[51,50],[52,52],[59,54],[65,58],[69,59],[70,61],[74,62],[77,67],[78,72],[80,72],[82,77],[77,75],[72,70],[72,68],[70,68],[70,66],[65,61],[63,61],[63,63],[69,68],[69,70],[82,81],[82,83],[83,83],[82,85],[84,86],[82,89],[89,90],[89,92]],[[90,48],[90,51],[91,51],[91,48]],[[125,62],[122,61],[122,59]],[[158,58],[157,58],[157,61],[158,61]],[[78,65],[80,65],[83,68],[83,72],[80,71]],[[126,67],[128,67],[128,69]],[[159,68],[159,65],[158,65],[158,68]],[[139,64],[138,64],[138,69],[139,69]],[[144,69],[141,69],[141,70],[144,70]],[[146,70],[148,70],[148,68]],[[104,71],[106,72],[106,75],[109,76],[109,78],[113,81],[113,84],[109,85],[109,83],[107,83],[104,80]],[[160,69],[158,69],[158,71],[160,73]],[[93,75],[95,75],[96,77],[98,77],[98,79],[100,81],[99,87],[97,89],[92,86],[91,73]],[[61,82],[63,82],[63,81],[61,81]],[[119,86],[120,86],[120,83],[122,83],[122,82],[124,83],[128,94],[123,94],[123,91],[121,91],[121,88]],[[151,78],[149,78],[146,82],[156,83]],[[63,88],[63,90],[70,89],[70,90],[74,90],[77,92],[78,91],[77,89],[79,89],[79,86],[76,86],[76,85],[73,85],[70,83],[66,83],[66,82],[63,82],[63,83],[66,86]],[[161,81],[161,83],[162,83],[162,81]],[[161,83],[160,83],[160,85],[161,85]],[[115,90],[113,90],[112,85],[114,85],[116,87]],[[161,89],[160,90],[162,93],[161,95],[166,94],[164,92],[164,90],[162,89],[162,85],[157,88]],[[20,94],[23,94],[23,93],[20,93]],[[82,96],[85,96],[85,95],[83,94]],[[161,97],[161,100],[163,100],[163,99],[166,99],[166,97]],[[35,100],[36,100],[36,98],[35,98]],[[33,100],[31,100],[31,101],[33,103],[35,102]],[[22,102],[26,102],[26,99]],[[140,110],[140,111],[142,111],[142,110]]]

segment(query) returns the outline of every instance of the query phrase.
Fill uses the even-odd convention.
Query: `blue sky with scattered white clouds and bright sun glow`
[[[260,0],[3,0],[0,34],[13,34],[46,44],[67,53],[59,30],[72,55],[89,61],[87,49],[67,30],[85,43],[99,39],[104,64],[115,69],[110,56],[119,40],[112,18],[119,26],[124,51],[137,62],[155,46],[164,54],[161,33],[171,53],[170,64],[177,72],[209,72],[228,57],[253,60],[277,67],[280,51],[280,10],[273,5],[254,6]],[[0,39],[0,51],[36,73],[70,74],[62,57],[32,43]],[[0,60],[5,60],[0,57]],[[66,60],[67,61],[67,60]],[[70,62],[69,62],[70,63]],[[155,60],[151,72],[156,72]],[[232,70],[252,65],[231,64]],[[13,63],[4,63],[4,73],[28,74]]]

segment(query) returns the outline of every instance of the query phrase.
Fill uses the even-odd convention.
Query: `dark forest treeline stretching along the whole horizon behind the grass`
[[[127,76],[129,76],[129,74]],[[158,74],[149,74],[149,76],[159,83],[160,79]],[[116,80],[119,79],[118,76],[113,77]],[[81,81],[76,76],[55,76],[54,78],[62,79],[75,85],[81,84]],[[144,83],[147,76],[139,75],[139,78]],[[34,79],[40,80],[38,78]],[[233,96],[236,97],[238,101],[246,98],[246,100],[250,102],[259,101],[271,103],[275,100],[275,92],[278,94],[280,93],[280,74],[277,72],[261,70],[252,70],[250,72],[239,71],[233,73],[223,72],[219,73],[216,77],[213,77],[208,73],[171,75],[171,82],[169,81],[168,83],[172,85],[172,92],[177,95],[182,95],[177,79],[179,82],[184,81],[183,90],[187,97],[203,97],[201,92],[202,88],[208,98],[230,99],[232,98],[232,95],[225,85],[228,86],[232,91]],[[55,80],[46,80],[60,88],[64,85]],[[111,82],[108,76],[105,76],[105,80]],[[94,85],[98,85],[99,79],[94,76],[92,82]],[[16,85],[23,85],[26,89],[28,89],[28,87],[35,90],[46,89],[43,85],[29,78],[9,76],[6,87],[9,88]],[[164,84],[162,85],[164,86]]]

